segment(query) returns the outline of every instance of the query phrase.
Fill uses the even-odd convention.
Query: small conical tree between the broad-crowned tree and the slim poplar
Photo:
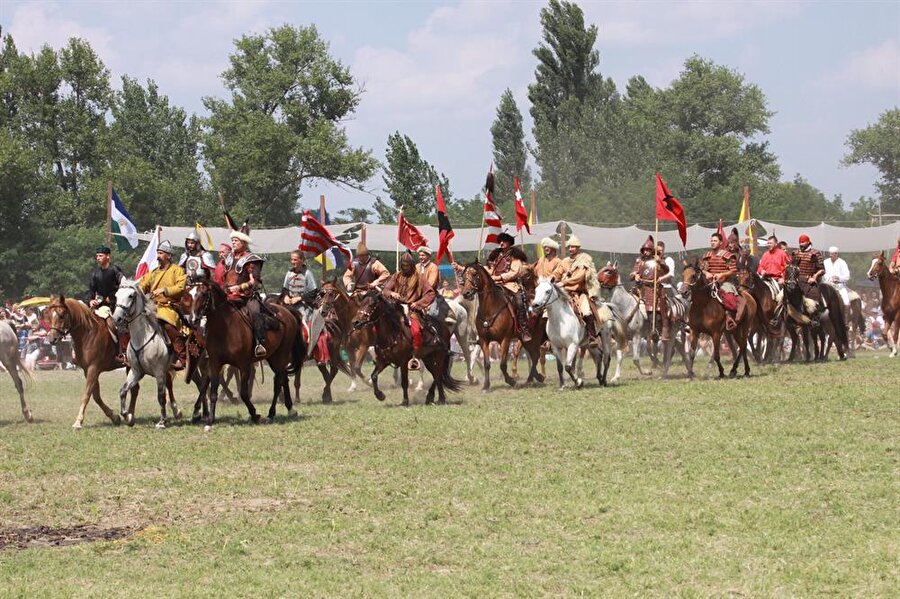
[[[384,191],[388,201],[378,198],[375,212],[382,223],[397,222],[403,207],[404,216],[415,224],[434,220],[435,187],[440,184],[445,201],[450,201],[450,181],[419,155],[416,144],[399,131],[388,136],[387,164],[384,167]],[[388,203],[390,202],[390,203]]]

